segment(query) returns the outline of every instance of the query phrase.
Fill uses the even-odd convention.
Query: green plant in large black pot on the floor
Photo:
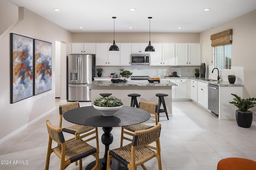
[[[254,107],[254,104],[256,104],[256,98],[248,98],[243,99],[237,96],[236,94],[231,94],[235,96],[233,99],[233,102],[229,102],[231,104],[234,104],[236,107],[238,107],[238,110],[236,110],[236,123],[240,127],[251,127],[252,125],[252,111],[248,110],[252,107]]]

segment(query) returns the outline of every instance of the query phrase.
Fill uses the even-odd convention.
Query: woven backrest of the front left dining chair
[[[46,121],[47,130],[49,133],[49,136],[52,140],[54,140],[56,143],[64,143],[64,135],[62,133],[62,129],[60,127],[55,127],[50,123],[49,120]]]

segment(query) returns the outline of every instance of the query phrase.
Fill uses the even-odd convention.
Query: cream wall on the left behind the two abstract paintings
[[[69,44],[72,39],[69,31],[26,8],[8,5],[0,6],[0,11],[4,8],[8,8],[6,11],[9,13],[19,14],[16,16],[19,20],[0,35],[0,72],[2,73],[0,81],[0,129],[2,129],[0,143],[55,108],[55,77],[52,77],[52,90],[10,104],[10,33],[52,43],[53,73],[55,72],[55,41]],[[5,15],[8,16],[8,13]],[[66,51],[67,53],[68,51]],[[61,60],[61,63],[66,64],[66,55]]]

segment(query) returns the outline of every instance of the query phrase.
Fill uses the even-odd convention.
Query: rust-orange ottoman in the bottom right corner
[[[245,158],[225,158],[218,162],[217,170],[256,170],[256,162]]]

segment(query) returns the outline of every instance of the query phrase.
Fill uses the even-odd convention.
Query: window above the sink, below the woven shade
[[[213,59],[216,68],[231,69],[231,45],[213,47]]]

